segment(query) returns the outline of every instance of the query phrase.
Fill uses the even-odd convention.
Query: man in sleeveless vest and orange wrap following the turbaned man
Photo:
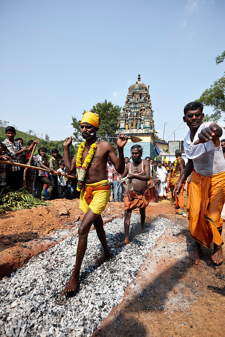
[[[133,191],[127,191],[124,200],[124,241],[116,245],[117,248],[123,247],[129,243],[130,216],[133,209],[139,208],[141,215],[141,231],[144,233],[145,209],[149,204],[150,189],[148,180],[150,180],[150,165],[148,160],[142,159],[143,148],[141,145],[131,147],[132,163],[128,163],[122,178],[129,175],[129,179],[134,182]]]

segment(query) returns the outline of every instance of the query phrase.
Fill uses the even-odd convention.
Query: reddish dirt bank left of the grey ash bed
[[[0,279],[22,267],[32,256],[77,235],[84,216],[79,200],[53,200],[51,204],[0,215]],[[104,223],[122,217],[123,212],[122,203],[110,204],[103,216]]]

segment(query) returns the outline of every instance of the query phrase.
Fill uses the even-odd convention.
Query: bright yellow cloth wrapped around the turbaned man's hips
[[[85,200],[85,196],[89,187],[93,189],[93,198],[90,203],[87,203],[87,201]],[[108,203],[109,193],[110,191],[108,180],[102,180],[93,184],[86,184],[85,189],[82,189],[80,192],[79,208],[85,213],[90,208],[93,213],[99,215],[104,211]]]

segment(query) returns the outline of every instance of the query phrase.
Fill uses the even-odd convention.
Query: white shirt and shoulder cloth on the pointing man
[[[195,171],[204,177],[210,177],[225,171],[225,160],[221,145],[216,148],[212,140],[194,145],[195,141],[198,140],[198,134],[212,123],[214,122],[202,123],[196,131],[193,142],[189,130],[183,142],[186,156],[193,160]]]

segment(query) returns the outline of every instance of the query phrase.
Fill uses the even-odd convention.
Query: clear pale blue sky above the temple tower
[[[61,140],[83,109],[105,98],[123,106],[140,73],[155,129],[166,122],[173,140],[184,105],[223,75],[224,10],[222,0],[2,0],[0,119]]]

